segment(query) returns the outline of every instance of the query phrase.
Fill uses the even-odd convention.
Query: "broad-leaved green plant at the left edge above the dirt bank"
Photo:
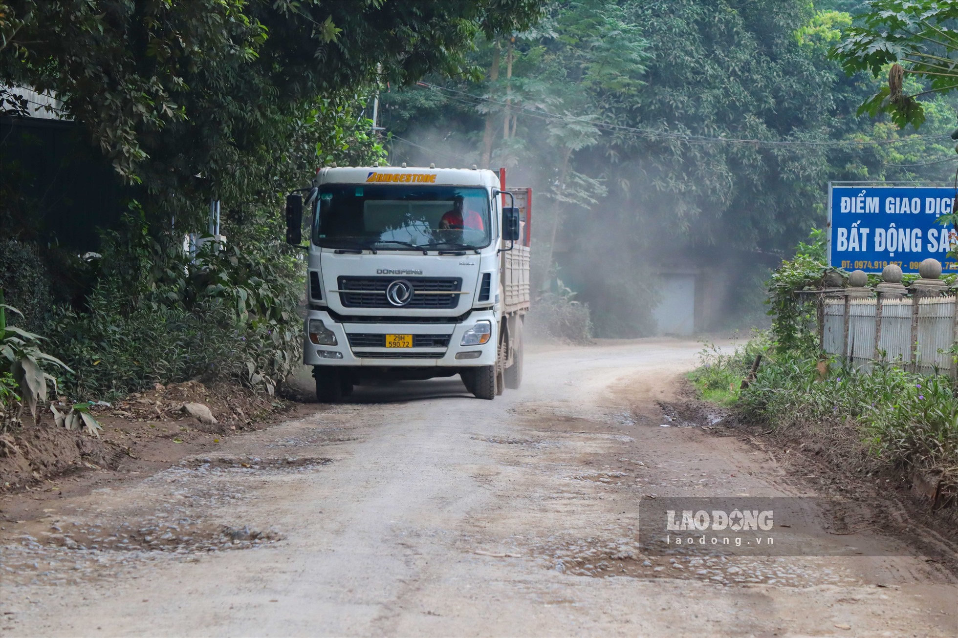
[[[3,303],[0,291],[0,373],[10,373],[20,389],[21,407],[30,408],[30,414],[36,422],[36,406],[47,400],[47,384],[52,383],[57,392],[57,377],[43,371],[42,366],[49,362],[63,370],[73,372],[56,356],[39,349],[43,340],[38,334],[7,325],[6,311],[23,316],[18,309]]]

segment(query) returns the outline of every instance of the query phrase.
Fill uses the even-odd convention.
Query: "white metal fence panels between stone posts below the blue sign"
[[[916,303],[917,301],[917,303]],[[876,360],[958,378],[947,351],[958,341],[955,297],[823,300],[821,337],[827,353],[870,368]]]

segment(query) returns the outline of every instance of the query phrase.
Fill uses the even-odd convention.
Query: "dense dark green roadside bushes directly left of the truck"
[[[234,227],[190,256],[130,217],[104,241],[87,308],[57,312],[57,353],[76,371],[64,388],[99,399],[199,376],[274,393],[301,354],[303,285],[277,226]]]

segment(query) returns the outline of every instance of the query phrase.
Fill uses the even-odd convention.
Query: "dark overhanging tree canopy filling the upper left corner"
[[[316,132],[319,100],[468,73],[476,34],[537,13],[537,0],[3,0],[0,80],[55,92],[147,187],[152,217],[184,219],[301,180],[317,158],[291,147]]]

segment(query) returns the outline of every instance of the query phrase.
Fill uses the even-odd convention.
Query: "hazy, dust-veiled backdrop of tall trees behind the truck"
[[[394,165],[534,188],[540,308],[586,303],[607,337],[761,324],[764,279],[824,226],[830,180],[954,171],[954,98],[920,133],[855,114],[882,80],[828,51],[860,7],[551,3],[532,31],[476,41],[474,77],[387,87],[378,124]]]

